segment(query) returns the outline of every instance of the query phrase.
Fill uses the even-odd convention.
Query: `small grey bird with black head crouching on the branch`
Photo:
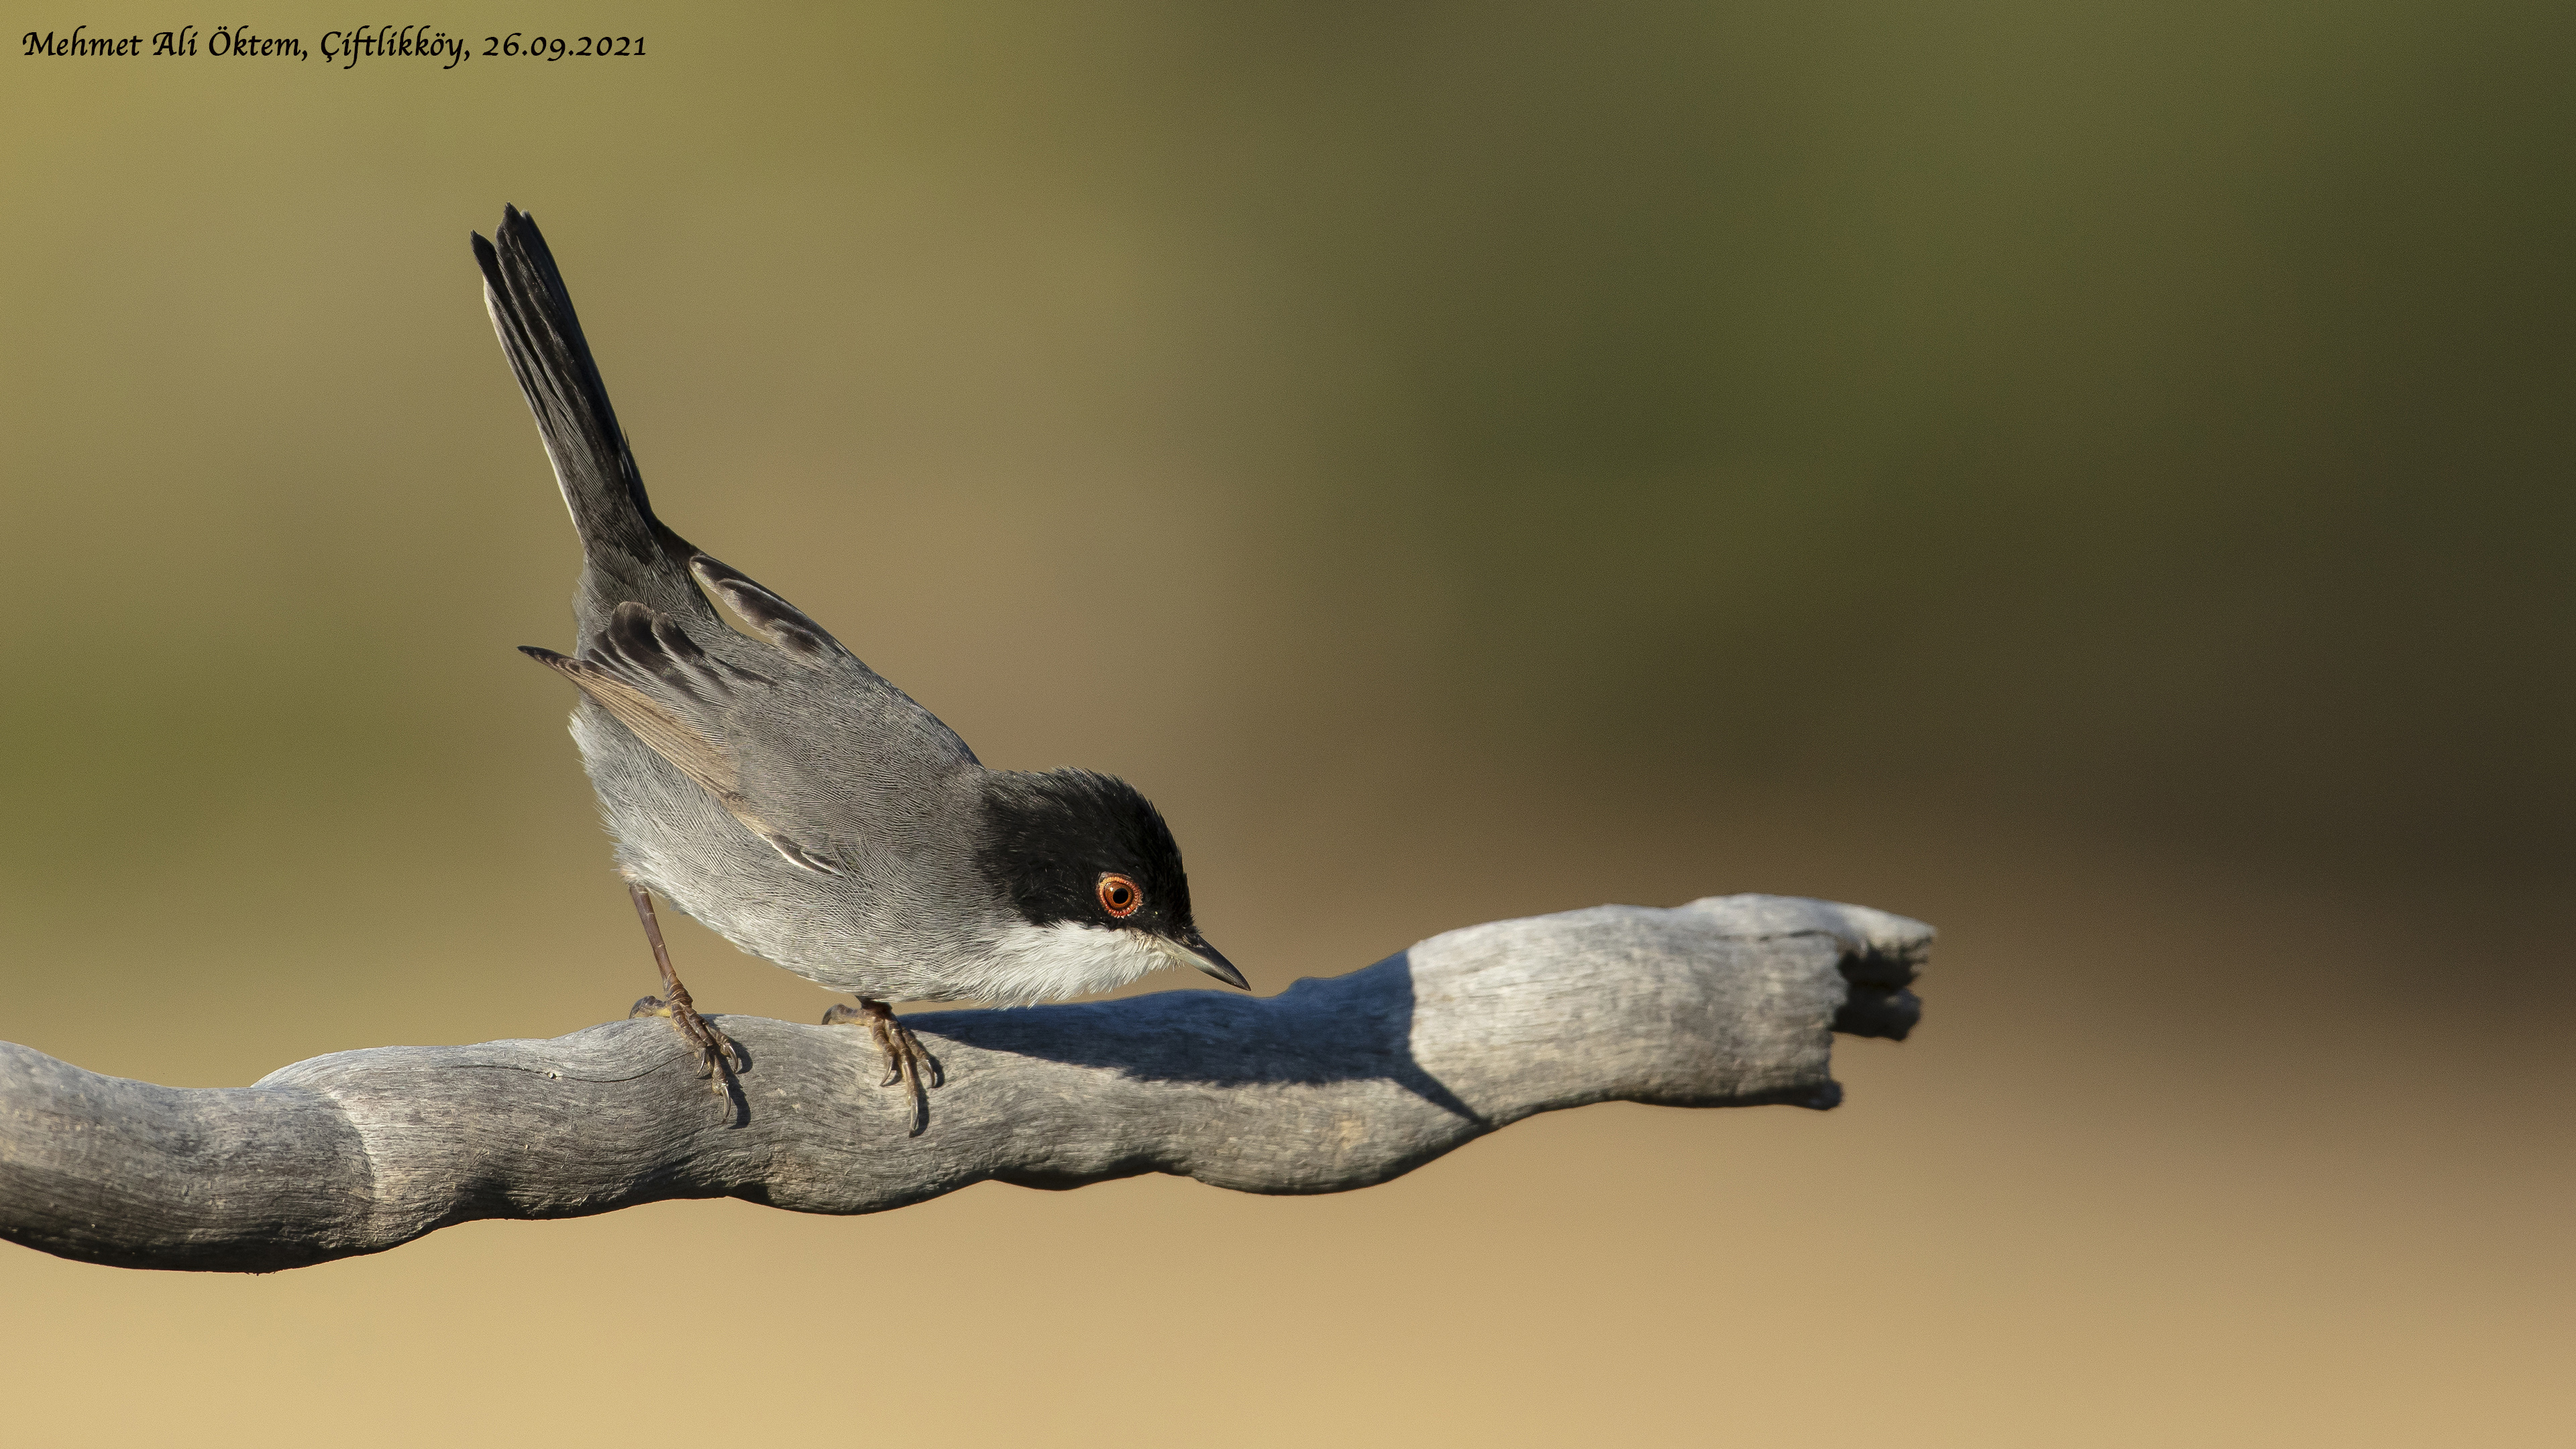
[[[582,536],[574,652],[523,652],[582,691],[572,740],[662,972],[662,995],[629,1016],[667,1016],[698,1075],[732,1085],[742,1055],[672,972],[659,892],[744,951],[858,995],[824,1024],[868,1026],[881,1085],[904,1083],[920,1134],[940,1065],[889,1000],[1025,1006],[1157,967],[1244,987],[1198,933],[1180,846],[1144,794],[1079,768],[984,768],[822,624],[672,534],[536,222],[505,206],[474,260]]]

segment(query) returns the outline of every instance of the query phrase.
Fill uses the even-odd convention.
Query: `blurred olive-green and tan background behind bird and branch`
[[[2576,1431],[2576,10],[580,23],[647,59],[5,62],[0,1036],[237,1085],[652,987],[510,652],[574,539],[505,201],[662,513],[989,763],[1139,781],[1257,990],[1772,890],[1940,926],[1924,1026],[1832,1114],[1332,1199],[0,1245],[15,1436]]]

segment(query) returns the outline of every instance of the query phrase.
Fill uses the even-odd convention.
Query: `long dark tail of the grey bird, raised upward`
[[[688,559],[698,549],[652,516],[644,477],[536,219],[502,206],[495,240],[474,237],[474,260],[484,273],[484,307],[500,333],[500,351],[510,356],[510,371],[528,394],[536,431],[554,459],[554,482],[582,534],[582,585],[574,598],[582,629],[603,624],[626,601],[680,616],[706,614],[706,596],[688,575]]]

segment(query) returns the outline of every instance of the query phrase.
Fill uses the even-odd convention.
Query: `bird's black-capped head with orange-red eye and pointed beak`
[[[1188,964],[1244,985],[1190,920],[1190,877],[1154,802],[1092,771],[994,771],[984,779],[984,877],[1030,926],[1144,931]]]

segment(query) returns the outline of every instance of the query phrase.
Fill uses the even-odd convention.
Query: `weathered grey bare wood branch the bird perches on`
[[[922,1137],[863,1031],[752,1016],[721,1018],[750,1052],[724,1101],[662,1021],[335,1052],[247,1088],[0,1044],[0,1238],[276,1271],[672,1196],[881,1212],[1136,1173],[1342,1191],[1561,1106],[1834,1106],[1832,1034],[1904,1036],[1929,944],[1880,910],[1734,895],[1471,926],[1275,998],[912,1013],[948,1067]]]

